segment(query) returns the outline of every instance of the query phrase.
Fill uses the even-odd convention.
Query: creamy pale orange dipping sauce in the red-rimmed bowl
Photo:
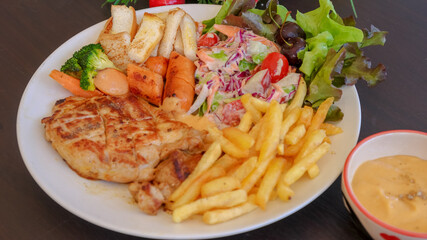
[[[427,161],[396,155],[367,161],[352,181],[360,203],[395,227],[427,233]]]

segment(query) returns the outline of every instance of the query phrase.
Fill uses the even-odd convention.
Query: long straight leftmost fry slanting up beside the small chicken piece
[[[200,176],[202,172],[212,166],[212,164],[220,157],[221,155],[221,146],[219,142],[213,142],[208,150],[203,154],[199,163],[193,172],[184,180],[184,182],[179,185],[179,187],[170,195],[169,201],[176,201],[179,197],[184,194],[187,188],[194,182],[197,177]]]

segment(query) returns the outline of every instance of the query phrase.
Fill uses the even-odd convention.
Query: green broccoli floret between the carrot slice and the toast
[[[80,79],[80,87],[84,90],[95,90],[93,78],[98,70],[116,68],[108,59],[101,44],[89,44],[73,54],[73,57],[61,67],[61,71]]]

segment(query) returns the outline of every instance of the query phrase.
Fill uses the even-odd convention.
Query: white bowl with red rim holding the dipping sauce
[[[391,226],[372,214],[357,200],[351,182],[357,168],[364,162],[393,155],[412,155],[427,159],[427,133],[413,130],[380,132],[360,141],[350,152],[341,179],[345,205],[354,213],[374,239],[403,240],[427,239],[427,233],[411,232]]]

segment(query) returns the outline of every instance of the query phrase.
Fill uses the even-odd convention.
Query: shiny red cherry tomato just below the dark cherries
[[[278,52],[272,52],[261,63],[261,70],[264,69],[270,72],[271,82],[276,83],[288,74],[288,59]]]

